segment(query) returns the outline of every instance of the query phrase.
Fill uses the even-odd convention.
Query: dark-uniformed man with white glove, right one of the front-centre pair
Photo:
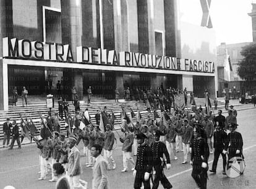
[[[156,171],[155,179],[153,181],[152,189],[156,189],[159,186],[159,182],[161,181],[164,188],[173,188],[169,180],[166,178],[163,172],[163,168],[165,166],[163,154],[167,159],[166,168],[171,168],[169,153],[167,151],[166,145],[163,142],[160,142],[160,136],[164,134],[161,131],[156,131],[155,134],[155,142],[151,145],[152,155],[153,155],[153,167]]]

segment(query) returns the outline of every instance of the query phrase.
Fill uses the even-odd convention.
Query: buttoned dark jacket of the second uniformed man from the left
[[[163,154],[166,156],[167,163],[170,163],[169,153],[167,151],[166,145],[163,142],[153,142],[151,150],[153,156],[153,166],[161,165],[161,158],[163,158]]]

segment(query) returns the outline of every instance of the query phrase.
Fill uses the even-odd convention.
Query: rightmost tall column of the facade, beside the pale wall
[[[177,0],[164,0],[166,56],[171,57],[180,57],[181,55],[177,11]]]

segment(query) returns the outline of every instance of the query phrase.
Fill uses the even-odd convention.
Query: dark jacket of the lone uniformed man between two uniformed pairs
[[[193,161],[193,163],[200,164],[202,162],[208,162],[209,147],[205,139],[193,139],[191,147],[191,161]],[[203,156],[203,158],[201,156]]]

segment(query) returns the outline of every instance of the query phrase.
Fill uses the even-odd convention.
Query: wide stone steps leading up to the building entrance
[[[182,95],[182,98],[184,96]],[[9,98],[11,99],[11,97]],[[202,107],[205,106],[205,99],[200,99],[195,97],[195,102],[197,104],[197,107],[199,105],[202,105]],[[211,100],[211,105],[213,105],[213,100]],[[95,124],[95,114],[96,110],[103,111],[104,107],[107,107],[107,110],[109,113],[111,113],[111,110],[113,111],[114,115],[116,116],[115,124],[117,125],[117,128],[119,128],[118,124],[121,124],[121,110],[122,107],[126,110],[126,112],[129,114],[130,108],[134,111],[134,113],[137,113],[137,107],[139,108],[139,111],[142,115],[142,118],[147,118],[148,115],[150,115],[153,118],[153,111],[151,111],[151,114],[148,113],[146,110],[145,103],[142,102],[142,100],[135,101],[131,100],[129,102],[124,102],[124,100],[119,100],[119,103],[115,103],[114,100],[108,100],[103,95],[93,95],[91,99],[90,105],[87,104],[87,96],[83,97],[83,100],[80,101],[80,110],[85,111],[85,108],[88,108],[88,111],[91,116],[92,124]],[[219,103],[218,108],[223,108],[224,103]],[[187,107],[185,110],[188,110],[189,112],[192,112],[191,105],[190,105],[190,97],[187,99]],[[25,118],[27,116],[28,119],[32,119],[35,123],[35,126],[38,128],[38,131],[40,131],[40,117],[39,113],[43,115],[46,115],[49,111],[49,108],[46,108],[46,97],[43,95],[34,95],[34,96],[28,96],[28,106],[22,107],[22,99],[19,99],[17,102],[17,106],[13,107],[12,105],[9,106],[8,111],[0,111],[0,139],[3,139],[3,132],[2,132],[2,124],[6,122],[6,118],[10,118],[12,120],[16,120],[17,124],[20,124],[20,116],[19,113]],[[54,113],[58,113],[58,99],[54,99],[54,108],[51,109],[51,115],[54,115]],[[71,115],[74,115],[75,108],[74,105],[72,105],[71,102],[69,102],[69,112]],[[158,115],[160,115],[158,111]],[[169,114],[169,113],[168,113]],[[135,118],[133,119],[135,122]],[[61,121],[61,131],[65,131],[64,128],[65,121]]]

